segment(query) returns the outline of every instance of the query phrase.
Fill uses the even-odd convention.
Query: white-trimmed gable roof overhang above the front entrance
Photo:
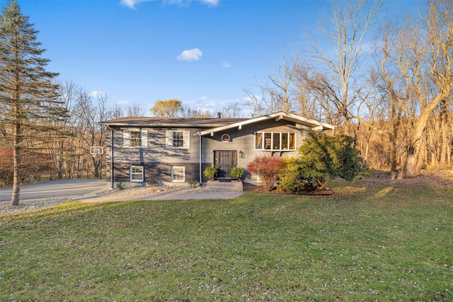
[[[289,112],[275,112],[270,115],[263,115],[261,117],[255,117],[250,120],[244,120],[241,122],[235,122],[233,124],[226,124],[221,127],[215,127],[212,129],[207,129],[202,132],[198,132],[198,134],[202,135],[207,135],[210,134],[211,136],[214,135],[215,132],[222,132],[225,130],[229,129],[234,129],[237,128],[238,130],[243,129],[243,127],[246,127],[248,124],[254,124],[257,122],[264,122],[266,120],[275,120],[276,122],[280,120],[286,120],[288,122],[294,122],[297,124],[302,124],[306,127],[310,127],[313,129],[313,131],[324,131],[324,130],[331,130],[334,129],[335,127],[331,124],[327,124],[325,122],[319,122],[317,120],[312,120],[306,117],[301,117],[299,115],[295,115],[294,113],[289,113]]]

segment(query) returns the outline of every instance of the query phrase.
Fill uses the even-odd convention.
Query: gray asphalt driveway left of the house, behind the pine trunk
[[[54,198],[67,199],[91,196],[108,190],[107,180],[54,180],[21,185],[21,199]],[[12,187],[0,188],[0,202],[11,200]]]

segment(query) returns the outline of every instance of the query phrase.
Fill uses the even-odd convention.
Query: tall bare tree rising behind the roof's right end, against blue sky
[[[331,47],[324,47],[323,39],[312,35],[309,55],[314,59],[304,67],[309,71],[306,73],[309,90],[317,95],[325,110],[336,110],[330,115],[336,114],[348,124],[365,85],[358,68],[365,36],[374,28],[383,1],[330,1],[330,4],[331,15],[320,18],[319,29]]]

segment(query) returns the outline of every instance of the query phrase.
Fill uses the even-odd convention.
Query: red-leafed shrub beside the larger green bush
[[[253,161],[247,164],[247,170],[256,174],[263,182],[263,189],[266,192],[272,190],[278,174],[285,169],[285,162],[281,157],[256,156]]]

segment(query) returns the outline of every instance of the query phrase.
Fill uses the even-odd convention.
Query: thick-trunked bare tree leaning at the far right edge
[[[404,176],[420,175],[425,128],[433,110],[448,100],[453,87],[453,2],[428,1],[428,11],[420,24],[411,27],[412,35],[405,55],[399,59],[404,79],[413,91],[413,132],[409,137]],[[406,68],[407,66],[407,68]]]

